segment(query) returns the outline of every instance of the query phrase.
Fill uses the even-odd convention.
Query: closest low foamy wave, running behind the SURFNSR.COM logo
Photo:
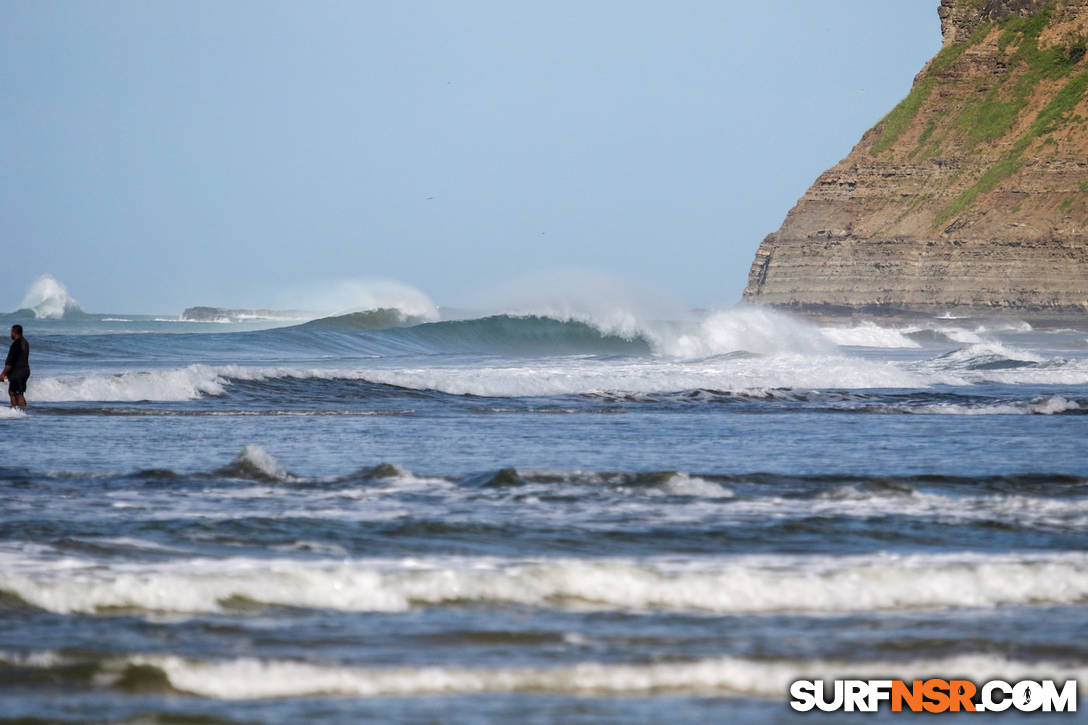
[[[90,672],[99,685],[183,692],[220,700],[341,696],[357,698],[498,692],[601,696],[747,697],[781,699],[796,679],[846,679],[857,673],[887,679],[926,679],[955,673],[975,681],[1075,678],[1085,691],[1088,668],[977,654],[906,662],[757,660],[722,656],[666,662],[579,662],[553,667],[359,667],[292,660],[194,660],[129,654],[101,660],[55,652],[2,654],[0,663],[49,669],[59,677]]]

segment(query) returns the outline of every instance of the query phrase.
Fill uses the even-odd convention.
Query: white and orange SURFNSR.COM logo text
[[[790,686],[790,706],[798,712],[1076,712],[1077,683],[1052,679],[976,685],[966,679],[799,679]]]

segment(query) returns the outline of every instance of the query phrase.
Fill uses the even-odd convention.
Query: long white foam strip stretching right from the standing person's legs
[[[481,397],[650,395],[698,390],[772,396],[777,394],[775,391],[780,390],[923,389],[938,384],[969,385],[988,381],[1005,384],[1088,383],[1088,360],[1044,361],[1037,366],[1012,369],[972,368],[972,365],[985,365],[988,359],[1003,358],[986,358],[960,352],[951,358],[913,362],[873,360],[834,354],[778,354],[768,357],[709,359],[544,358],[499,362],[487,360],[465,365],[437,364],[428,367],[374,366],[350,369],[193,365],[185,368],[114,374],[32,378],[27,384],[27,397],[37,402],[193,401],[206,395],[228,393],[232,380],[258,381],[273,378],[363,380],[398,388]],[[1059,413],[1061,411],[1058,409],[1059,405],[1065,405],[1065,409],[1072,410],[1074,409],[1072,406],[1076,403],[1071,401],[1062,404],[1060,400],[1054,398],[1036,409],[1009,408],[1005,413]],[[942,410],[934,408],[927,411]],[[968,408],[948,407],[944,411],[963,414],[968,411]],[[297,411],[281,411],[281,414],[295,415]]]

